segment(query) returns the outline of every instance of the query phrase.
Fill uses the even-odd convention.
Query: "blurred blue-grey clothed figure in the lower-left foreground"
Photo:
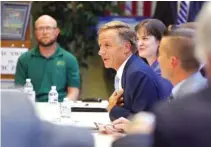
[[[1,92],[2,147],[93,147],[91,133],[72,126],[41,121],[26,95],[18,90]]]

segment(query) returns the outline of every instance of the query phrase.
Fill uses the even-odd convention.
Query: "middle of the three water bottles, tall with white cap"
[[[59,102],[58,102],[59,94],[56,91],[56,86],[51,86],[51,90],[48,93],[48,103],[49,103],[49,110],[51,115],[51,119],[54,122],[59,121]]]

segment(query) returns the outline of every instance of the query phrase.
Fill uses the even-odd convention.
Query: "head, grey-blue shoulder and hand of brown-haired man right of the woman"
[[[207,80],[198,71],[200,63],[194,55],[194,35],[191,29],[179,28],[170,31],[161,40],[158,61],[162,75],[174,85],[171,99],[178,99],[207,87]],[[119,118],[112,125],[116,130],[125,131],[130,123],[125,118]]]

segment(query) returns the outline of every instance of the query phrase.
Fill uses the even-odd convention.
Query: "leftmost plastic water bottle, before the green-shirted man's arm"
[[[27,97],[34,104],[35,103],[35,91],[33,89],[33,85],[31,83],[31,79],[26,79],[26,84],[24,85],[24,93],[27,94]]]

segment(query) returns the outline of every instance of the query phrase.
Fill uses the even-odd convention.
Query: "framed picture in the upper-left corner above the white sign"
[[[1,39],[25,40],[31,2],[1,2]]]

